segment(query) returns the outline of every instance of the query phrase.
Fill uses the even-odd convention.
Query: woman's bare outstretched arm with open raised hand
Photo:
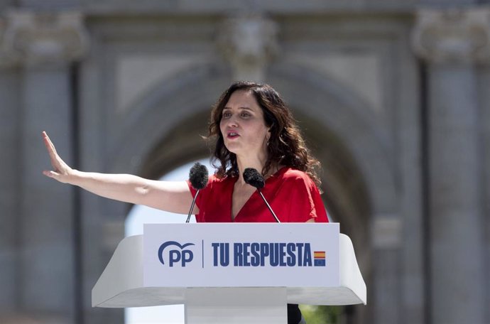
[[[168,212],[180,214],[189,212],[192,195],[185,181],[158,181],[129,174],[77,171],[60,158],[45,131],[43,131],[43,141],[53,166],[52,171],[43,171],[43,174],[60,183],[77,185],[105,198],[146,205]],[[194,207],[193,212],[198,211],[197,206]]]

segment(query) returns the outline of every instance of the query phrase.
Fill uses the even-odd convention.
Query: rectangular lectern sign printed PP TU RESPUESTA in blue
[[[146,224],[144,286],[339,286],[339,224]]]

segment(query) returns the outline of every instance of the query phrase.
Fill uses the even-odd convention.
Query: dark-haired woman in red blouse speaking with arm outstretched
[[[328,222],[320,198],[320,163],[310,155],[293,115],[269,85],[235,82],[211,112],[217,172],[200,190],[192,213],[197,222]],[[45,175],[105,198],[187,214],[197,190],[190,181],[148,180],[136,175],[89,173],[70,168],[43,132],[52,171]],[[246,169],[263,177],[264,203]],[[305,323],[298,305],[288,305],[288,323]]]

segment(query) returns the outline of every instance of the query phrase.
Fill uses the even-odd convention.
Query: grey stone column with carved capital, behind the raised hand
[[[7,20],[3,48],[21,64],[21,159],[15,169],[21,192],[20,308],[40,323],[72,323],[73,188],[41,174],[50,163],[40,134],[48,131],[58,153],[72,163],[70,64],[85,52],[87,34],[78,13],[12,12]]]

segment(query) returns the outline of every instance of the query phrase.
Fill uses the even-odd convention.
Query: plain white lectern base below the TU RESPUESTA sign
[[[288,323],[285,288],[187,288],[186,324]]]

